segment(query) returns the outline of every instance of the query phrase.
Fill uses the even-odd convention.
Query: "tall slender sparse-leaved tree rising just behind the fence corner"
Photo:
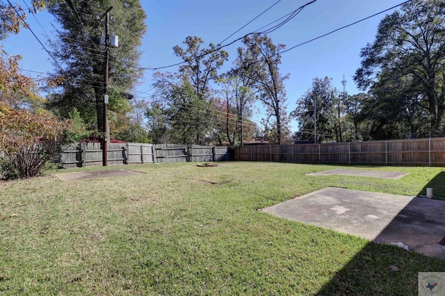
[[[271,142],[282,144],[283,139],[289,134],[289,116],[286,112],[286,89],[284,80],[289,74],[282,76],[278,65],[281,63],[280,51],[285,48],[284,44],[273,44],[267,35],[254,34],[246,36],[243,40],[248,58],[241,66],[252,67],[252,71],[241,72],[254,81],[254,88],[259,92],[259,99],[266,107],[266,124],[273,127]]]

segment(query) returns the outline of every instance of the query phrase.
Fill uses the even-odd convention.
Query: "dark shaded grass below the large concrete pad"
[[[445,261],[369,242],[316,295],[418,295],[418,272],[441,272]]]

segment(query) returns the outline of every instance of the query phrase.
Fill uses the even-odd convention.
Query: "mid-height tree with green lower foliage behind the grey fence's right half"
[[[184,44],[185,48],[173,47],[184,61],[178,72],[154,74],[156,99],[165,101],[168,123],[177,141],[204,144],[218,122],[212,112],[216,92],[211,80],[218,76],[228,54],[214,44],[203,48],[204,42],[196,36],[188,36]]]

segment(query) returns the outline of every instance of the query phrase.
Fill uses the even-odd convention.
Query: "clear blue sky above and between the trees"
[[[275,19],[291,13],[308,1],[281,0],[224,44],[246,33],[256,31]],[[30,5],[30,2],[31,0],[17,0],[17,3],[24,8],[26,8],[25,3]],[[141,0],[147,14],[148,30],[143,38],[140,66],[163,67],[181,62],[173,54],[172,47],[177,44],[181,45],[188,35],[202,38],[205,45],[210,42],[218,43],[275,2],[277,0]],[[268,35],[274,43],[286,44],[286,47],[289,48],[391,6],[396,6],[401,2],[403,0],[317,0],[290,22]],[[390,10],[386,14],[392,11]],[[359,67],[360,49],[367,42],[373,42],[377,26],[384,16],[385,13],[282,54],[280,70],[282,74],[290,74],[289,80],[286,81],[289,113],[295,109],[296,101],[311,87],[312,79],[315,77],[328,76],[333,79],[334,86],[341,90],[343,88],[341,80],[344,74],[348,81],[346,84],[348,93],[358,92],[352,76]],[[54,28],[51,26],[51,22],[51,15],[45,12],[38,13],[35,17],[33,15],[28,17],[31,29],[44,44],[47,44],[44,31],[54,38]],[[47,52],[42,49],[38,40],[29,30],[23,29],[19,35],[10,36],[4,40],[3,45],[9,54],[23,56],[22,69],[51,72],[52,65]],[[225,48],[229,52],[229,60],[221,72],[229,69],[232,65],[236,48],[240,46],[241,42],[236,42]],[[175,72],[176,68],[172,67],[166,70]],[[153,92],[153,72],[147,70],[144,79],[136,88],[135,94],[139,99],[150,99],[150,94]],[[37,76],[38,74],[29,72],[29,75]],[[254,121],[259,122],[264,117],[263,112],[262,108],[258,108],[254,115]],[[296,122],[292,122],[292,129],[296,131]]]

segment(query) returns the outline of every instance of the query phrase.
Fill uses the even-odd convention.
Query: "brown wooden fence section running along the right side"
[[[243,146],[236,149],[235,159],[288,163],[444,166],[445,138]]]

